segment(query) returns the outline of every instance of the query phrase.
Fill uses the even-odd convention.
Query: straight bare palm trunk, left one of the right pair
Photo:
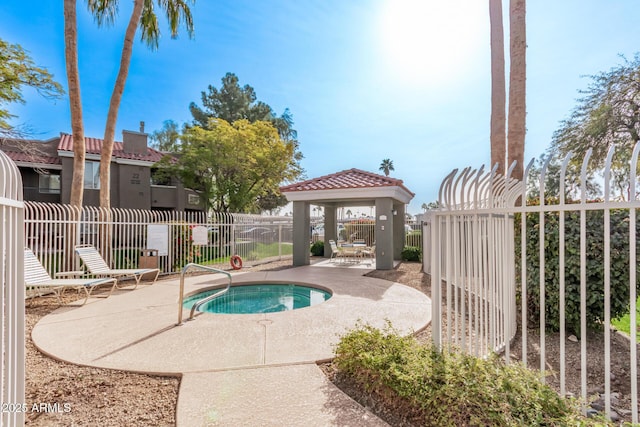
[[[489,24],[491,27],[491,166],[498,165],[497,173],[505,173],[506,89],[504,71],[504,29],[502,25],[502,0],[489,0]]]

